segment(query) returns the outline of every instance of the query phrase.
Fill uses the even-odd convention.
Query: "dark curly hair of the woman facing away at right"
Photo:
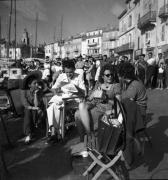
[[[119,65],[118,74],[120,77],[123,77],[126,79],[130,79],[130,80],[137,79],[137,77],[135,75],[135,68],[129,62],[124,62]]]

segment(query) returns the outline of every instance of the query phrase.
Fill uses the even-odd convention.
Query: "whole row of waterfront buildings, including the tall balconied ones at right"
[[[135,59],[153,52],[168,55],[168,0],[126,0],[119,29],[99,28],[45,46],[50,58],[113,53]]]

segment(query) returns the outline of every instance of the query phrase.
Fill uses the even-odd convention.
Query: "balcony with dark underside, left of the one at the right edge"
[[[142,30],[145,29],[146,27],[154,26],[155,22],[156,22],[156,11],[149,11],[139,19],[138,28]]]

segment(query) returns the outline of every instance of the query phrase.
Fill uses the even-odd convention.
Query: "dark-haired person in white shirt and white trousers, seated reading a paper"
[[[73,61],[68,60],[63,62],[64,73],[60,74],[52,87],[53,93],[56,95],[55,100],[60,99],[58,96],[61,92],[61,88],[67,84],[72,84],[78,91],[75,92],[77,96],[84,97],[86,88],[84,84],[84,80],[80,75],[75,73],[75,64]],[[54,99],[54,98],[53,98]],[[74,99],[73,103],[79,103]],[[71,108],[73,108],[73,104],[70,104]],[[49,132],[51,132],[50,140],[55,139],[55,133],[57,133],[58,137],[60,136],[60,104],[58,102],[52,102],[50,106],[47,108],[47,116],[48,116],[48,124],[49,124]],[[56,130],[56,132],[55,132]]]

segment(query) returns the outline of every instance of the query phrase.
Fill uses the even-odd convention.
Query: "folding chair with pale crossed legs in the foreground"
[[[117,162],[119,160],[124,160],[123,157],[123,150],[125,148],[125,121],[126,116],[122,107],[122,104],[115,98],[115,118],[121,118],[122,116],[122,123],[120,126],[110,126],[111,131],[114,131],[113,136],[111,136],[109,144],[107,144],[108,148],[110,147],[110,151],[112,153],[106,154],[102,151],[102,147],[100,147],[99,139],[97,139],[97,149],[94,149],[92,147],[88,147],[88,154],[93,160],[91,165],[88,167],[88,169],[83,173],[83,176],[88,176],[90,173],[93,173],[96,169],[96,167],[100,167],[99,170],[96,171],[96,173],[93,175],[92,180],[98,179],[103,172],[107,171],[109,175],[111,175],[115,180],[124,179],[122,177],[122,173],[119,172],[121,168],[117,168]],[[102,118],[100,119],[102,121]],[[99,132],[98,132],[99,133]],[[98,135],[99,138],[99,135]],[[106,141],[106,139],[104,139]],[[123,163],[124,164],[124,163]],[[119,170],[120,169],[120,170]],[[126,170],[126,168],[125,168]]]

